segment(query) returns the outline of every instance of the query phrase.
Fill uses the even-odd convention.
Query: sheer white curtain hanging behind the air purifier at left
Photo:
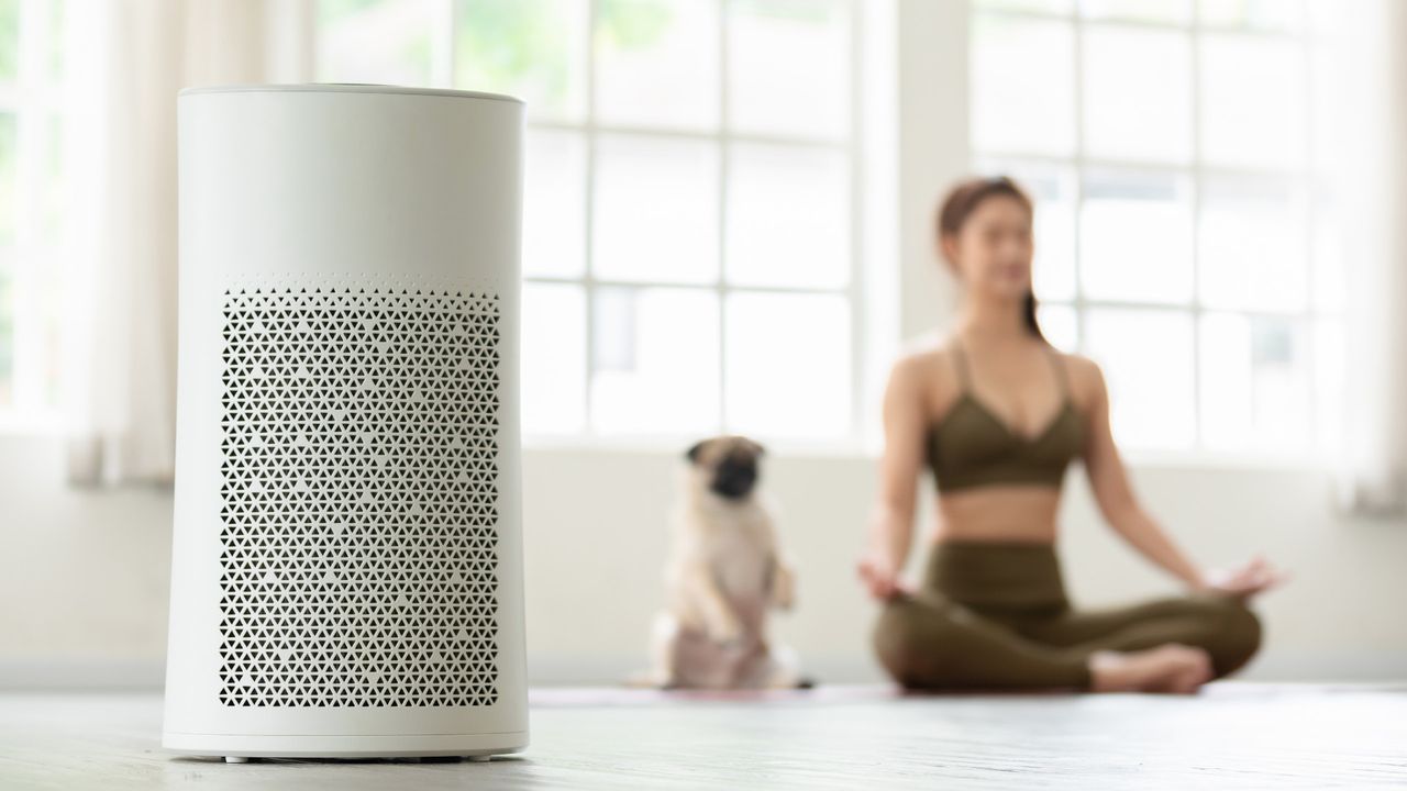
[[[165,483],[176,429],[176,94],[305,82],[304,0],[70,1],[68,477]]]

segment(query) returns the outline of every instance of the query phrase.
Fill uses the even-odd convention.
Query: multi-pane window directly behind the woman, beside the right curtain
[[[1301,0],[975,0],[979,172],[1034,194],[1054,343],[1140,449],[1310,457],[1339,435],[1342,273]]]

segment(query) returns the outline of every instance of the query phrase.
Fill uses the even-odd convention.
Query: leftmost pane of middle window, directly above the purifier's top
[[[318,0],[318,79],[422,86],[432,0]]]

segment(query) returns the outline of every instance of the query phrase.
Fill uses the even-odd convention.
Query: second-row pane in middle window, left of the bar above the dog
[[[718,144],[597,138],[592,267],[598,277],[718,277]]]

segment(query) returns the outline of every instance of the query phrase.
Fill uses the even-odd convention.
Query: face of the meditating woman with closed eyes
[[[957,234],[943,238],[943,253],[968,289],[993,297],[1021,297],[1031,289],[1031,215],[1010,196],[976,204]]]

